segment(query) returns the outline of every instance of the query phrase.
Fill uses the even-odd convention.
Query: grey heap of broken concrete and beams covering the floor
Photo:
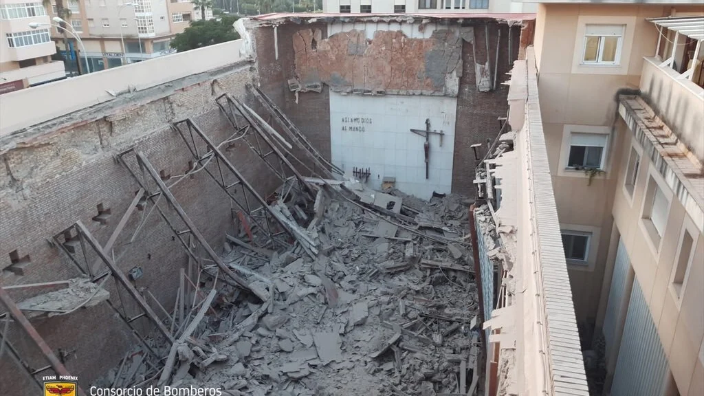
[[[481,347],[468,202],[309,181],[315,203],[271,204],[304,242],[276,252],[227,236],[223,260],[258,292],[201,268],[175,343],[153,349],[165,364],[131,352],[103,381],[233,396],[473,395]],[[149,362],[124,379],[134,356]]]

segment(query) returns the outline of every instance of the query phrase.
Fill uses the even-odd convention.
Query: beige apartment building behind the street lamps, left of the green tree
[[[190,1],[66,0],[63,6],[70,10],[67,23],[82,40],[91,71],[172,54],[171,38],[183,32],[191,20],[201,19],[200,8]],[[56,1],[47,11],[56,16]],[[206,10],[206,18],[213,18],[212,10]],[[52,29],[51,38],[64,52],[62,32]],[[77,72],[73,45],[69,40],[68,56],[74,62],[68,62],[67,67]],[[84,62],[82,54],[79,58]]]

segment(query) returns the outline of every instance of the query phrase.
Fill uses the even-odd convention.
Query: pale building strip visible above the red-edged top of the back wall
[[[512,0],[323,0],[324,13],[534,13]]]

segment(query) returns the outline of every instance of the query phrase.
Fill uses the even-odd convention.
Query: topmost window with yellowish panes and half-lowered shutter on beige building
[[[625,25],[586,25],[582,63],[617,65]]]

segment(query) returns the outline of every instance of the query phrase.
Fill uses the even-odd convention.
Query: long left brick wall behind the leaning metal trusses
[[[249,65],[244,64],[218,76],[217,83],[206,79],[175,92],[159,87],[146,104],[101,110],[105,113],[94,122],[64,128],[61,132],[47,132],[25,147],[1,154],[6,172],[0,175],[0,268],[10,264],[8,253],[15,249],[20,255],[30,254],[32,260],[24,276],[5,276],[1,284],[40,283],[80,276],[77,267],[47,240],[77,220],[87,225],[102,244],[108,240],[139,190],[130,173],[113,156],[134,146],[144,152],[157,171],[182,175],[191,154],[181,137],[169,128],[169,123],[192,117],[214,142],[225,140],[232,129],[215,106],[215,98],[223,92],[244,97],[244,86],[251,82],[251,76]],[[277,187],[268,168],[245,144],[239,143],[226,155],[248,180],[257,181],[260,192],[268,193]],[[213,249],[220,252],[224,233],[232,228],[230,199],[204,172],[184,178],[172,192]],[[97,204],[111,209],[106,225],[92,221],[97,214]],[[142,266],[144,277],[135,285],[149,290],[163,307],[173,307],[179,268],[187,264],[187,256],[156,211],[148,218],[147,212],[132,214],[115,242],[115,257],[122,271]],[[176,217],[171,214],[170,218]],[[130,243],[142,223],[142,231]],[[180,221],[177,227],[185,229]],[[87,256],[89,262],[96,259],[92,252]],[[101,271],[106,269],[101,264]],[[118,309],[124,304],[127,316],[141,313],[121,287],[118,295],[113,280],[105,287]],[[27,297],[22,290],[11,290],[11,295],[15,300]],[[154,311],[163,316],[158,306],[149,297],[146,299]],[[5,307],[0,307],[0,311],[6,311]],[[80,377],[84,387],[118,364],[126,350],[138,343],[106,303],[32,323],[56,354],[60,349],[67,352],[65,366]],[[151,330],[146,318],[132,323],[142,335]],[[13,324],[11,328],[8,339],[27,364],[34,369],[46,366],[39,349],[20,333],[18,326]],[[0,373],[2,388],[8,395],[39,392],[30,378],[6,357],[0,361]]]

